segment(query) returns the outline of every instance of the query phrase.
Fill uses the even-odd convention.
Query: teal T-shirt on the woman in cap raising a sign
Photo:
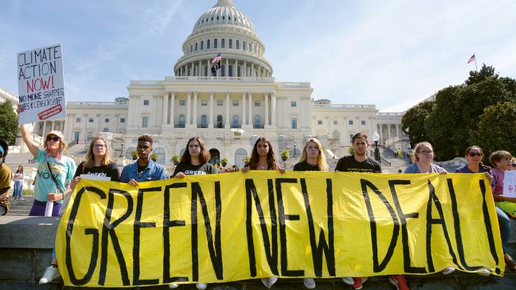
[[[55,186],[54,180],[52,180],[52,176],[50,176],[50,171],[48,171],[46,156],[46,152],[40,149],[38,155],[34,158],[38,162],[36,184],[34,184],[34,199],[36,201],[47,201],[47,194],[51,192],[55,194],[60,193]],[[76,171],[74,159],[63,155],[61,160],[57,160],[54,157],[48,156],[48,163],[52,168],[57,184],[60,184],[61,189],[66,191],[67,183],[74,178]],[[56,203],[62,203],[62,200],[56,201]]]

